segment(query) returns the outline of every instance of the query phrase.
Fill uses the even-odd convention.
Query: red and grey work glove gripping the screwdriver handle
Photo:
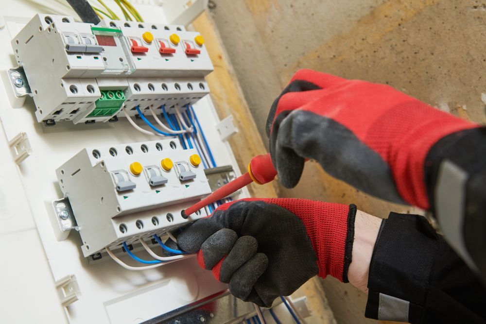
[[[474,127],[388,85],[299,70],[273,103],[266,131],[287,188],[299,181],[304,158],[312,158],[364,192],[427,209],[429,150],[441,138]]]

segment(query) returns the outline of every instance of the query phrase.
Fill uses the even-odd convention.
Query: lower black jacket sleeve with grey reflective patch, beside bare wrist
[[[418,215],[382,221],[365,316],[410,323],[486,323],[482,281]]]

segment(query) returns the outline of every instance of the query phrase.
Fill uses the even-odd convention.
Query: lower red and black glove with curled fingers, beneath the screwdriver
[[[243,199],[184,229],[177,244],[243,301],[270,307],[312,276],[347,281],[355,205]]]

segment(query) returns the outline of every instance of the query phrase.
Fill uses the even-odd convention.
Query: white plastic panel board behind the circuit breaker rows
[[[12,34],[35,14],[45,13],[50,3],[57,8],[53,14],[69,14],[56,1],[40,2],[44,6],[33,6],[35,1],[9,1],[8,6],[2,3],[4,16],[0,17],[0,322],[139,323],[226,289],[212,273],[200,269],[194,257],[133,272],[112,260],[90,264],[74,230],[66,240],[56,239],[48,209],[52,201],[63,197],[55,173],[58,167],[86,147],[147,142],[160,137],[139,133],[126,119],[95,124],[59,122],[46,127],[37,122],[31,99],[9,100],[5,71],[16,66],[10,46]],[[162,7],[137,8],[146,21],[166,23]],[[22,17],[17,17],[19,14]],[[231,148],[220,139],[215,127],[219,119],[210,97],[197,102],[194,110],[217,165],[233,165],[239,175]],[[145,127],[140,120],[136,122]],[[17,166],[8,141],[20,133],[28,136],[32,153]],[[248,196],[247,190],[240,196]],[[137,255],[150,258],[138,251]],[[126,256],[122,260],[135,265]],[[55,282],[69,275],[75,276],[80,295],[63,307]]]

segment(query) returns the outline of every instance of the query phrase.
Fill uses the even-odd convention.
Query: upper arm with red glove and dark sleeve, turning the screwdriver
[[[266,125],[280,182],[304,159],[373,196],[430,209],[486,282],[486,129],[391,86],[300,70]]]

